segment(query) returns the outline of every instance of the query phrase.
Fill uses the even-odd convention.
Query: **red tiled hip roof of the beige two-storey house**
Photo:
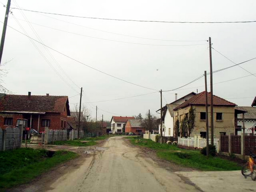
[[[208,92],[208,105],[211,105],[210,96],[211,96],[211,93]],[[188,105],[205,105],[205,91],[198,93],[194,97],[191,97],[189,100],[180,104],[178,107],[174,108],[173,110],[175,111],[179,108],[187,107]],[[213,105],[215,105],[215,106],[236,106],[235,103],[229,102],[229,101],[222,99],[216,95],[213,95]]]

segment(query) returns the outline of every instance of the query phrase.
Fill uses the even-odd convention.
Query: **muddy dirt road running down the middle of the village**
[[[201,191],[151,158],[141,156],[140,149],[128,145],[124,137],[111,137],[102,147],[92,149],[85,149],[84,154],[89,155],[81,156],[76,165],[60,167],[16,191]]]

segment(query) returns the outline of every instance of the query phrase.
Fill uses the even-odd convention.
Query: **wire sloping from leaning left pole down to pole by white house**
[[[0,21],[0,22],[1,22],[1,21]],[[1,22],[1,23],[3,23],[3,22]],[[9,25],[7,25],[7,26],[10,27],[10,28],[12,28],[12,27],[9,26]],[[99,69],[93,68],[93,67],[91,67],[91,66],[89,66],[89,65],[87,65],[87,64],[82,63],[81,61],[78,61],[78,60],[76,60],[76,59],[74,59],[74,58],[72,58],[72,57],[70,57],[70,56],[68,56],[68,55],[66,55],[66,54],[64,54],[64,53],[62,53],[62,52],[59,52],[59,51],[57,51],[57,50],[55,50],[55,49],[53,49],[53,48],[51,48],[51,47],[49,47],[49,46],[47,46],[47,45],[45,45],[45,44],[43,44],[43,43],[37,41],[36,39],[34,39],[34,38],[32,38],[32,37],[30,37],[30,36],[28,36],[28,35],[26,35],[26,34],[20,32],[19,30],[15,29],[15,28],[12,28],[12,29],[15,30],[15,31],[17,31],[17,32],[19,32],[20,34],[22,34],[22,35],[24,35],[24,36],[27,36],[28,38],[30,38],[30,39],[36,41],[36,42],[39,43],[39,44],[42,44],[42,45],[48,47],[49,49],[51,49],[51,50],[53,50],[53,51],[55,51],[55,52],[57,52],[57,53],[60,53],[61,55],[65,56],[65,57],[67,57],[67,58],[69,58],[69,59],[71,59],[71,60],[74,60],[74,61],[76,61],[76,62],[78,62],[78,63],[80,63],[80,64],[82,64],[82,65],[84,65],[84,66],[86,66],[86,67],[89,67],[89,68],[91,68],[91,69],[94,69],[94,70],[96,70],[96,71],[98,71],[98,72],[100,72],[100,73],[103,73],[103,74],[105,74],[105,75],[111,76],[111,77],[113,77],[113,78],[115,78],[115,79],[118,79],[118,80],[120,80],[120,81],[129,83],[129,84],[133,84],[133,85],[136,85],[136,86],[139,86],[139,87],[143,87],[143,88],[145,88],[145,89],[150,89],[150,90],[158,91],[158,90],[156,90],[156,89],[152,89],[152,88],[149,88],[149,87],[145,87],[145,86],[142,86],[142,85],[139,85],[139,84],[135,84],[135,83],[126,81],[126,80],[121,79],[121,78],[119,78],[119,77],[116,77],[116,76],[110,75],[110,74],[108,74],[108,73],[105,73],[105,72],[103,72],[103,71],[101,71],[101,70],[99,70]]]

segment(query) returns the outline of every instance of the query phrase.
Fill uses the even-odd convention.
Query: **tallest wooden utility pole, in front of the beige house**
[[[212,91],[212,42],[209,37],[209,51],[210,51],[210,80],[211,80],[211,145],[213,146],[213,91]]]

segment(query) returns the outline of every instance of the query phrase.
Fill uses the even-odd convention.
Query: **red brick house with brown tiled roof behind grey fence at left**
[[[68,96],[0,94],[0,128],[15,126],[18,118],[28,119],[28,127],[39,132],[44,127],[65,129],[70,116]]]

